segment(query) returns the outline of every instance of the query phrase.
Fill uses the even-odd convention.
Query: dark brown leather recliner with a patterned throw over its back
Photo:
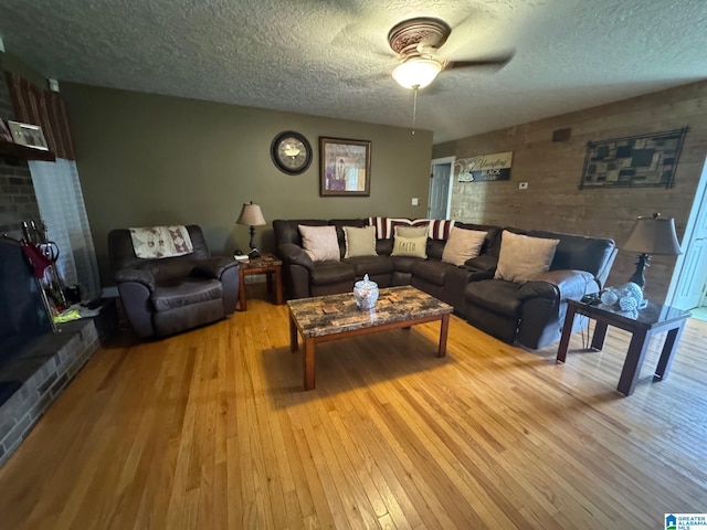
[[[113,230],[108,252],[125,315],[140,338],[165,337],[213,322],[235,311],[239,267],[211,257],[201,229],[188,225],[193,252],[139,258],[130,231]]]

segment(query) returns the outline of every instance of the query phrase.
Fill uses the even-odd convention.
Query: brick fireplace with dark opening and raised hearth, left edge
[[[13,119],[11,97],[0,53],[0,117]],[[27,160],[0,156],[0,237],[22,236],[22,221],[40,221]],[[53,332],[31,269],[18,245],[3,240],[0,256],[0,466],[52,402],[66,388],[107,333],[112,312],[59,326]],[[13,259],[11,262],[11,259]],[[24,267],[24,268],[23,268]],[[39,303],[36,301],[39,299]],[[32,304],[34,304],[32,306]],[[104,330],[104,333],[99,333]]]

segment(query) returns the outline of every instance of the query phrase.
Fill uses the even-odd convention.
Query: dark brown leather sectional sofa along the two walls
[[[334,225],[341,261],[313,262],[302,247],[298,226]],[[486,232],[477,257],[456,266],[442,261],[444,240],[428,239],[428,258],[391,256],[393,240],[378,240],[377,256],[344,258],[344,226],[367,226],[368,219],[276,220],[277,254],[288,298],[354,290],[365,274],[380,287],[413,285],[452,305],[457,315],[508,343],[537,349],[560,338],[568,298],[598,293],[615,257],[612,240],[515,227],[456,223],[455,229]],[[494,279],[502,233],[557,239],[550,271],[523,284]],[[577,319],[580,329],[584,319]]]

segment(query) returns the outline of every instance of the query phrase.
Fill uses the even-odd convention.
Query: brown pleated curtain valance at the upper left
[[[66,103],[62,96],[40,88],[12,72],[7,72],[7,76],[17,120],[42,127],[46,144],[56,158],[75,160]]]

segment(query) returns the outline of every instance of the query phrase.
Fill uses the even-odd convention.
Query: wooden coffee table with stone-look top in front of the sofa
[[[289,308],[289,349],[298,349],[297,333],[304,340],[304,386],[315,386],[315,344],[415,324],[440,320],[437,357],[446,354],[450,314],[454,309],[414,287],[380,289],[376,308],[361,311],[354,293],[317,296],[287,301]]]

